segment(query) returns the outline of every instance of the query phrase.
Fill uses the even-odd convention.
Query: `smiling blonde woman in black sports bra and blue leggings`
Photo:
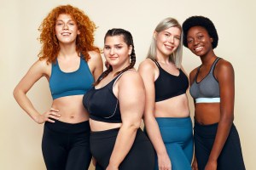
[[[189,80],[183,71],[182,28],[166,18],[156,26],[148,57],[139,65],[146,89],[143,120],[154,145],[154,169],[191,169],[192,122],[186,91]]]

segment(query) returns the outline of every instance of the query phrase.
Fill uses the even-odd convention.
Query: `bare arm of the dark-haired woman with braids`
[[[122,126],[119,129],[107,169],[118,169],[119,164],[131,150],[137,128],[142,122],[145,103],[143,80],[136,71],[126,71],[114,88],[118,89],[116,92]]]

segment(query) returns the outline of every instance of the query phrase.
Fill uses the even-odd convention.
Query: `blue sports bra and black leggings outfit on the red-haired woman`
[[[94,78],[84,59],[79,69],[63,72],[52,64],[49,88],[53,99],[70,95],[84,95],[92,87]],[[90,166],[89,121],[75,124],[55,120],[44,123],[42,150],[48,170],[84,170]]]

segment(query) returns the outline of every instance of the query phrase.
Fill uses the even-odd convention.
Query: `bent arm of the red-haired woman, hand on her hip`
[[[38,111],[34,108],[32,105],[32,102],[30,99],[27,98],[26,93],[32,88],[35,82],[38,82],[38,80],[41,77],[49,76],[49,71],[47,70],[47,67],[49,65],[46,64],[46,62],[38,60],[35,64],[32,65],[32,67],[27,71],[25,77],[23,77],[18,85],[15,87],[14,90],[14,97],[17,101],[17,103],[20,105],[20,107],[26,111],[26,113],[32,117],[32,120],[34,122],[38,122],[39,124],[49,121],[54,122],[50,120],[49,118],[53,119],[59,119],[60,115],[57,114],[57,110],[50,109],[50,111],[45,112],[44,114],[39,114]]]

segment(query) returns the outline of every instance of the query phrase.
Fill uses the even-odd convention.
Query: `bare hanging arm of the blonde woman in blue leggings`
[[[158,123],[154,117],[154,105],[155,105],[155,92],[154,92],[154,79],[155,70],[157,70],[153,61],[146,59],[141,65],[139,65],[138,72],[143,77],[146,90],[146,105],[143,115],[143,120],[148,133],[148,137],[154,145],[158,157],[159,169],[172,169],[171,160],[167,154],[166,146],[160,134]]]

